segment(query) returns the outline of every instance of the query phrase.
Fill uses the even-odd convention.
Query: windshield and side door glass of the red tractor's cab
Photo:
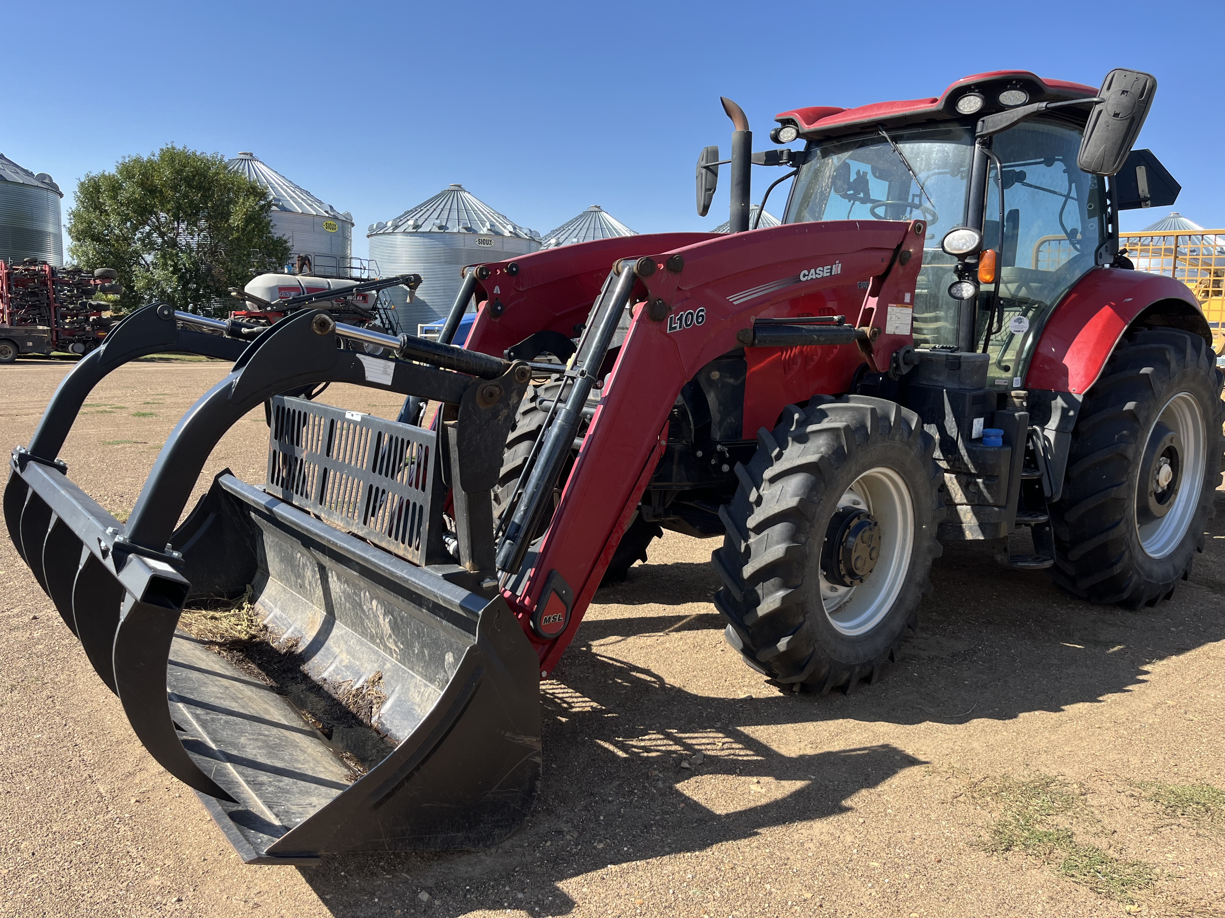
[[[948,295],[957,262],[940,242],[965,219],[973,144],[965,125],[817,143],[788,202],[785,223],[927,222],[913,326],[920,348],[957,344],[959,304]],[[979,293],[974,349],[991,354],[996,388],[1022,384],[1046,317],[1106,236],[1104,186],[1077,166],[1079,144],[1078,124],[1046,116],[991,140],[982,244],[998,253],[998,283]]]

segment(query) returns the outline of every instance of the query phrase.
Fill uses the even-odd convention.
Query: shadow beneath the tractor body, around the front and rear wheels
[[[1225,640],[1225,492],[1218,492],[1215,508],[1189,581],[1177,585],[1171,601],[1137,611],[1084,602],[1055,586],[1045,572],[1005,568],[986,543],[946,545],[932,565],[933,590],[919,607],[919,633],[908,635],[900,661],[883,668],[878,684],[861,682],[849,695],[795,696],[800,718],[908,726],[1013,720],[1132,690],[1154,661]],[[1013,551],[1031,548],[1019,541]],[[675,567],[631,568],[626,583],[603,588],[597,602],[627,605],[632,600],[626,594],[639,591],[639,602],[670,605],[649,597],[662,592]],[[713,595],[719,584],[709,565],[688,567],[680,577],[702,581],[706,596]],[[699,595],[691,595],[688,601],[688,608],[675,613],[586,619],[579,639],[620,656],[616,645],[636,636],[723,630],[725,623],[708,600],[701,603]],[[718,657],[712,665],[740,665],[730,649]]]

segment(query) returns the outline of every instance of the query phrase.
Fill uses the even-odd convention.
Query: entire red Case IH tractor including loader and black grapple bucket
[[[1128,158],[1154,91],[981,73],[784,111],[772,137],[804,149],[767,153],[724,100],[733,233],[477,266],[437,341],[327,310],[258,329],[146,307],[13,452],[10,536],[145,747],[261,863],[513,831],[539,788],[539,679],[664,529],[722,539],[726,639],[794,689],[873,679],[942,542],[1153,606],[1203,546],[1223,426],[1198,302],[1118,251],[1120,209],[1177,191]],[[791,168],[779,226],[748,225],[755,163]],[[719,164],[703,151],[702,212]],[[91,388],[157,350],[234,370],[121,523],[56,455]],[[332,381],[409,398],[394,421],[311,400]],[[267,480],[219,471],[180,525],[260,404]],[[238,596],[314,688],[176,632],[190,599]],[[332,730],[333,703],[368,730]]]

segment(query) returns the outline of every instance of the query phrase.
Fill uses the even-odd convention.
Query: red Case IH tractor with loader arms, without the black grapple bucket
[[[467,348],[533,357],[522,343],[551,335],[567,359],[604,266],[658,251],[637,262],[639,306],[564,474],[532,458],[557,424],[556,383],[529,392],[508,443],[497,567],[518,570],[530,541],[514,601],[537,618],[551,602],[564,623],[533,632],[541,668],[605,565],[624,573],[662,529],[723,537],[728,641],[821,692],[897,651],[941,542],[990,540],[1001,563],[1050,569],[1091,602],[1172,595],[1220,483],[1221,375],[1185,285],[1118,252],[1118,211],[1148,195],[1128,153],[1154,89],[1134,71],[1100,95],[980,73],[938,98],[784,111],[772,138],[805,148],[751,155],[724,100],[733,230],[748,229],[750,163],[793,168],[782,226],[479,268],[501,293]],[[717,162],[714,147],[698,160],[699,213]],[[517,497],[544,482],[557,498]],[[1033,550],[1012,553],[1025,530]]]

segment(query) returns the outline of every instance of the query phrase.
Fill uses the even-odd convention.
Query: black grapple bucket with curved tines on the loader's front
[[[317,315],[246,346],[179,422],[126,525],[45,450],[15,450],[10,535],[141,742],[244,860],[486,846],[523,821],[540,774],[537,654],[477,563],[528,373],[339,350]],[[456,420],[440,436],[277,394],[328,381],[442,401]],[[265,486],[223,472],[175,529],[212,446],[266,400]],[[463,564],[440,550],[447,485],[468,508]],[[189,597],[247,591],[271,641],[258,654],[179,628]],[[317,716],[337,705],[349,716]]]

